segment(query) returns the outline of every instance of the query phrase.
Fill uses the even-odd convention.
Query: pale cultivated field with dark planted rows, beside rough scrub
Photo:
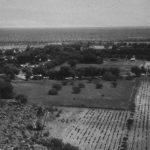
[[[46,129],[81,150],[150,149],[150,81],[142,81],[135,96],[135,112],[58,107],[54,120],[49,113]],[[128,120],[133,119],[131,128]]]

